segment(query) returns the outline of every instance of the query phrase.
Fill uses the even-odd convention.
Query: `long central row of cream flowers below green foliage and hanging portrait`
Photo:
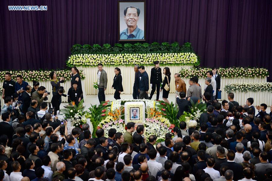
[[[103,65],[153,65],[154,61],[161,64],[195,65],[197,56],[195,53],[123,53],[123,54],[76,54],[68,57],[66,65],[72,67]]]

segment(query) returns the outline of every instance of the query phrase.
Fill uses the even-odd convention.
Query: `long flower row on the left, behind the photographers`
[[[49,81],[50,73],[55,72],[57,74],[57,77],[63,77],[66,80],[71,79],[71,70],[65,69],[65,70],[7,70],[7,71],[0,71],[0,80],[5,80],[5,74],[6,72],[11,73],[11,79],[15,80],[16,82],[16,76],[21,75],[24,80],[30,80],[30,81]],[[83,70],[80,70],[80,77],[81,79],[85,79],[86,76],[83,72]]]

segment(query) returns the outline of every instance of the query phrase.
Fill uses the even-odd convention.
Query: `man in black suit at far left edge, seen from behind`
[[[0,122],[0,133],[8,136],[8,146],[11,147],[12,135],[14,130],[12,126],[8,123],[10,121],[10,113],[4,112],[2,114],[2,119],[3,119],[3,122]]]

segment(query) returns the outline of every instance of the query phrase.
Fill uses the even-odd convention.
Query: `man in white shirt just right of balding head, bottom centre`
[[[156,155],[157,155],[157,151],[152,149],[152,150],[148,150],[148,156],[149,156],[149,160],[147,161],[147,165],[148,165],[148,173],[149,175],[153,175],[156,176],[158,172],[163,170],[163,166],[161,163],[156,161]]]

